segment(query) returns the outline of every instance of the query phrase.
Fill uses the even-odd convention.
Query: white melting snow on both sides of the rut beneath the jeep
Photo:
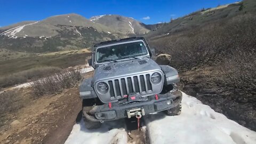
[[[216,113],[201,101],[183,93],[179,116],[157,113],[145,116],[148,143],[256,143],[256,132]],[[127,143],[124,119],[102,123],[100,129],[87,130],[83,121],[73,126],[69,143]],[[118,140],[117,140],[118,139]]]

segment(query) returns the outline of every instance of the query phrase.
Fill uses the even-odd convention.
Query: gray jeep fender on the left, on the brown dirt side
[[[79,94],[82,99],[97,98],[97,95],[93,91],[92,78],[84,79],[79,86]]]

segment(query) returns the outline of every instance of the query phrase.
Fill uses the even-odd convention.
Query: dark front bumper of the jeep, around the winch
[[[178,106],[182,100],[182,93],[180,91],[157,95],[158,99],[155,98],[155,95],[151,95],[148,97],[147,101],[133,102],[124,105],[111,103],[111,107],[109,107],[109,104],[94,106],[90,111],[83,109],[83,115],[93,122],[110,121],[130,117],[128,116],[129,111],[136,109],[143,110],[143,114],[145,115],[171,109]]]

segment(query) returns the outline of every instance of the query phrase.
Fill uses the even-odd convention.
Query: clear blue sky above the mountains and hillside
[[[203,7],[215,7],[237,0],[0,0],[0,26],[26,20],[42,20],[52,15],[77,13],[85,18],[102,14],[133,17],[146,24],[167,22]]]

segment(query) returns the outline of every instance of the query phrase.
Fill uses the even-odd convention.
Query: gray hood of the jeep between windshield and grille
[[[93,82],[156,70],[162,71],[161,67],[149,58],[110,62],[100,65],[94,70]]]

